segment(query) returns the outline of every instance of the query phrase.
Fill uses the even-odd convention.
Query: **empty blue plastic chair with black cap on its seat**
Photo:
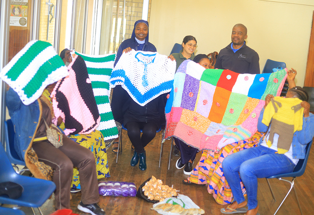
[[[39,212],[42,214],[39,207],[55,191],[56,185],[52,181],[17,174],[1,142],[0,145],[0,183],[11,181],[21,185],[24,189],[22,195],[17,199],[10,199],[7,195],[0,196],[0,203],[23,207],[38,207]]]

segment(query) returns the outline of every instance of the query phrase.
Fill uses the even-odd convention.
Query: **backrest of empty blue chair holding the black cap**
[[[18,174],[14,171],[1,142],[0,145],[0,182],[11,181],[10,179],[17,177]]]

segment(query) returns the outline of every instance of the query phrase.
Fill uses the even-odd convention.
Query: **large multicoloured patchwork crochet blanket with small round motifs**
[[[250,138],[266,95],[280,95],[286,73],[239,74],[184,61],[165,107],[165,139],[214,151]]]

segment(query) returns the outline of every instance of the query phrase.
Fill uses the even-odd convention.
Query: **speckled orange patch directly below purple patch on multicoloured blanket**
[[[210,121],[208,120],[208,118],[200,115],[195,111],[187,109],[182,110],[180,122],[202,133],[205,133],[208,129],[208,126],[210,125]]]

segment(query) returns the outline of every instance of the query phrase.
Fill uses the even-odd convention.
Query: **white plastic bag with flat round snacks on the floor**
[[[166,198],[156,203],[153,208],[156,212],[164,215],[200,215],[205,211],[199,208],[188,196],[179,195],[177,198]]]

